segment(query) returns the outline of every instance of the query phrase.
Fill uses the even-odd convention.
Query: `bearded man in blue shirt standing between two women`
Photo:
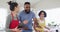
[[[28,30],[23,29],[22,32],[32,32],[32,21],[36,22],[36,17],[35,14],[30,10],[30,2],[25,2],[24,10],[19,14],[19,20],[28,28]]]

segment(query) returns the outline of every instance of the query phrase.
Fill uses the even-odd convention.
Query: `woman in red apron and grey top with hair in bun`
[[[11,14],[7,17],[6,22],[6,32],[21,32],[19,29],[17,29],[19,21],[17,18],[17,13],[19,12],[19,5],[16,2],[8,2],[11,10]]]

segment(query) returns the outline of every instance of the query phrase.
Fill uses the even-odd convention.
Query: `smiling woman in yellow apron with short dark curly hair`
[[[45,25],[45,17],[46,17],[46,12],[45,11],[40,11],[39,12],[39,17],[38,20],[38,25],[36,26],[36,32],[48,32],[49,28],[46,27]]]

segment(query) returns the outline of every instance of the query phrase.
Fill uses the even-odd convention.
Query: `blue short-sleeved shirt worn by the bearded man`
[[[35,18],[35,14],[30,11],[29,14],[27,14],[25,11],[22,11],[20,12],[19,14],[19,20],[21,22],[23,22],[24,20],[28,20],[28,24],[26,24],[26,26],[29,28],[29,29],[32,29],[32,19]]]

